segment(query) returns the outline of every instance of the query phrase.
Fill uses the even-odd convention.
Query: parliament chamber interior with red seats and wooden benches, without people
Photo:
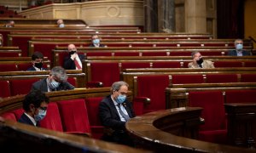
[[[5,0],[0,2],[0,148],[9,152],[255,152],[253,0]],[[57,20],[65,26],[59,26]],[[14,21],[14,26],[9,26]],[[90,47],[98,36],[103,47]],[[242,52],[236,52],[237,39]],[[32,84],[63,67],[73,90],[46,92],[40,127],[18,122]],[[44,71],[27,71],[44,54]],[[191,68],[196,53],[214,67]],[[192,55],[192,57],[191,57]],[[129,85],[134,146],[102,140],[99,105]]]

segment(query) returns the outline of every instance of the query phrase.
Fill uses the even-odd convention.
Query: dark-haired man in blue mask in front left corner
[[[46,116],[49,98],[40,90],[32,90],[23,101],[25,111],[18,122],[40,127],[39,122]]]

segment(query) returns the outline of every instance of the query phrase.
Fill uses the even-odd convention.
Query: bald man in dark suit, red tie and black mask
[[[85,59],[84,54],[78,54],[74,44],[67,46],[68,56],[64,59],[64,69],[66,70],[82,70],[82,61]]]

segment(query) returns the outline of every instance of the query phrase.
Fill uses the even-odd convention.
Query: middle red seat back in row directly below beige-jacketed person
[[[207,83],[238,82],[237,74],[207,74]]]

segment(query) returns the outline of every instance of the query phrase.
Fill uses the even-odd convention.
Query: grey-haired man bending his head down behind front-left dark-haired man
[[[49,77],[32,84],[32,90],[41,90],[42,92],[71,90],[73,88],[73,85],[67,82],[66,70],[61,66],[55,66],[49,72]]]

